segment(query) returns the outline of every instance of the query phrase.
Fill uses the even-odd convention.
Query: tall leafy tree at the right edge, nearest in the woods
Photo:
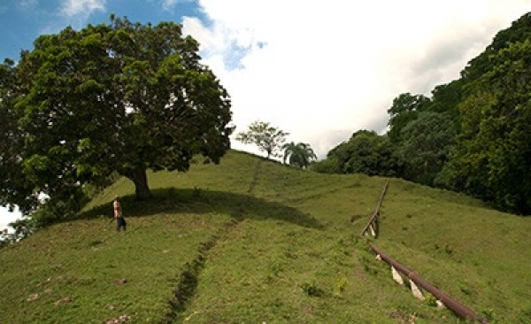
[[[447,167],[453,188],[506,211],[531,212],[531,41],[491,58],[494,68],[461,106],[463,133]]]

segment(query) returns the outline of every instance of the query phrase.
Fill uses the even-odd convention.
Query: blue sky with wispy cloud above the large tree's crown
[[[19,58],[33,49],[36,37],[74,28],[108,23],[111,13],[132,21],[181,22],[183,16],[204,19],[196,1],[161,0],[3,0],[0,4],[0,57]]]

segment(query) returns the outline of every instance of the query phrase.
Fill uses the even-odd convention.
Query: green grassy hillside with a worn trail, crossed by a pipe
[[[358,237],[387,179],[230,151],[219,166],[122,179],[79,220],[0,250],[0,322],[461,321],[412,297]],[[127,233],[109,225],[122,196]],[[353,220],[351,222],[351,220]],[[531,319],[531,218],[392,179],[371,242],[493,322]]]

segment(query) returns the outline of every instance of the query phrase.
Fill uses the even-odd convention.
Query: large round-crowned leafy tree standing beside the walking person
[[[229,96],[181,25],[112,16],[110,25],[67,27],[34,45],[14,67],[14,86],[2,84],[12,94],[2,114],[17,121],[16,138],[3,143],[18,145],[7,158],[24,175],[2,188],[3,204],[74,194],[112,172],[144,199],[147,169],[186,171],[198,153],[218,163],[229,148]],[[5,194],[20,188],[17,198]]]

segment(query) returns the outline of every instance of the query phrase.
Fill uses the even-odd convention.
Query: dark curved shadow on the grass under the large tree
[[[281,220],[305,228],[322,229],[319,220],[307,213],[285,204],[270,202],[250,195],[208,189],[153,189],[153,197],[139,201],[134,195],[120,197],[126,219],[128,217],[152,216],[162,212],[207,213],[219,212],[231,215],[236,220]],[[76,219],[112,217],[112,202],[101,204]]]

